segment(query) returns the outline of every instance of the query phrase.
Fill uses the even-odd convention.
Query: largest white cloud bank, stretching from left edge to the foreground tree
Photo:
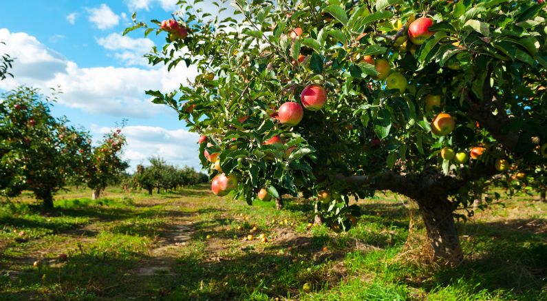
[[[169,92],[186,79],[195,78],[197,70],[180,64],[167,72],[167,68],[116,68],[113,66],[81,68],[61,54],[45,47],[36,38],[24,33],[11,33],[0,29],[0,53],[16,58],[13,79],[0,81],[0,89],[10,90],[18,85],[31,85],[47,91],[61,86],[63,94],[58,103],[75,107],[92,114],[116,117],[150,118],[167,112],[164,105],[150,102],[144,90]],[[112,48],[131,47],[131,41],[111,43]]]

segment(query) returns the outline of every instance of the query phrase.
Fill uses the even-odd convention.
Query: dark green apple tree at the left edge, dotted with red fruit
[[[30,190],[48,209],[68,180],[83,180],[91,151],[87,132],[51,115],[52,101],[30,87],[0,96],[0,194]]]

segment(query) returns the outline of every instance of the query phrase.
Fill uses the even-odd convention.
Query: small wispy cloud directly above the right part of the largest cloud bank
[[[148,65],[148,60],[143,55],[148,53],[154,43],[151,39],[132,39],[118,33],[109,34],[107,37],[97,39],[97,43],[107,50],[115,52],[114,57],[125,65]]]

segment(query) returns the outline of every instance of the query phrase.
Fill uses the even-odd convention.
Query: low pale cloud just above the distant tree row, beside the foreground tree
[[[111,130],[110,127],[93,127],[94,136],[103,136]],[[127,138],[127,150],[124,154],[126,160],[131,161],[131,170],[136,165],[148,165],[148,158],[160,156],[169,164],[180,167],[188,165],[196,170],[201,170],[198,157],[199,145],[197,145],[196,133],[186,129],[169,130],[163,127],[148,127],[143,125],[127,126],[122,129]]]

